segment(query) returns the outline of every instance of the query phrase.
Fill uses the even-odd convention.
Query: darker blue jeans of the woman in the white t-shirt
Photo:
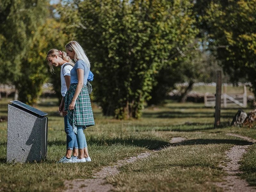
[[[68,116],[64,116],[64,125],[67,134],[67,150],[77,149],[76,134],[73,132],[73,127],[69,124]]]

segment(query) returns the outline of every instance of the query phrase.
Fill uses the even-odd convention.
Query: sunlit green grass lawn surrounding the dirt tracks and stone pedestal
[[[0,115],[7,116],[8,99],[0,103]],[[248,142],[227,136],[232,132],[256,139],[255,129],[229,127],[237,109],[221,110],[221,128],[214,129],[214,108],[203,103],[176,103],[145,108],[139,120],[116,120],[104,117],[96,104],[92,105],[95,126],[84,132],[91,163],[57,164],[66,151],[63,118],[57,99],[41,99],[38,109],[47,112],[48,155],[40,163],[6,163],[7,122],[0,123],[0,190],[62,191],[65,180],[90,178],[102,166],[119,159],[168,145],[173,137],[185,137],[182,145],[165,148],[144,159],[121,167],[121,172],[109,177],[116,191],[221,191],[214,185],[225,173],[219,164],[225,151]],[[249,112],[252,109],[245,109]],[[241,161],[242,177],[256,185],[255,146],[249,148]],[[248,164],[250,162],[250,165]],[[254,169],[251,167],[254,166]]]

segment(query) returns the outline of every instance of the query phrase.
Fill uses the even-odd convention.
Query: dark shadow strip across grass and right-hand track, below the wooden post
[[[252,145],[252,142],[237,139],[190,139],[179,143],[179,145],[207,145],[207,144],[234,144],[234,145]]]

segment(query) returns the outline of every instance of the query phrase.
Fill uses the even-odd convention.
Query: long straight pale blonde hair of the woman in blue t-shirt
[[[69,51],[74,51],[75,56],[74,60],[83,60],[85,62],[86,67],[90,69],[90,61],[88,57],[86,56],[84,49],[81,47],[81,45],[77,41],[70,41],[68,44],[65,45],[65,48]]]

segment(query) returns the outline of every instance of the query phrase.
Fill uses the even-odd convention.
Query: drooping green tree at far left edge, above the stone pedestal
[[[38,4],[37,4],[38,3]],[[40,5],[45,1],[1,0],[0,57],[3,61],[0,77],[2,83],[18,81],[21,59],[26,55],[37,25],[42,22],[45,10]],[[34,13],[37,14],[34,14]]]

